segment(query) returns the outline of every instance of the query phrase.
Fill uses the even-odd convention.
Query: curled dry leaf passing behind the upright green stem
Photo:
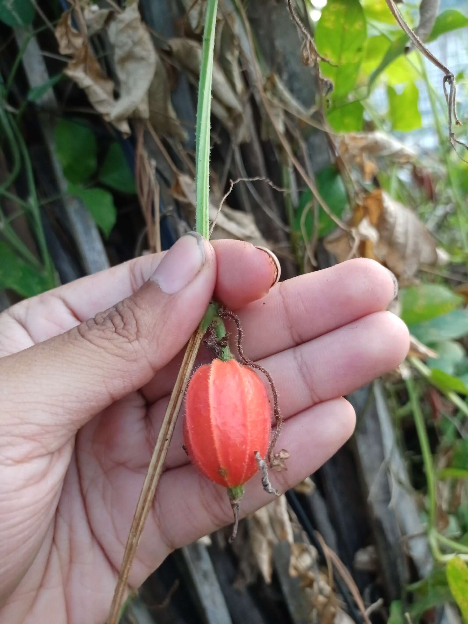
[[[187,71],[193,84],[198,85],[202,47],[198,41],[174,37],[169,39],[168,46],[172,56]],[[225,76],[220,64],[213,64],[212,112],[238,143],[249,140],[248,127],[243,115],[241,100]]]

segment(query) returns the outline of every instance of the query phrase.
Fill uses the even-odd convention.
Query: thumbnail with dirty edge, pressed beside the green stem
[[[178,239],[159,263],[151,280],[167,295],[187,286],[205,263],[203,238],[190,232]]]

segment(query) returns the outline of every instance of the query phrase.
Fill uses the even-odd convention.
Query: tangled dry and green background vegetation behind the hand
[[[466,2],[398,6],[466,121]],[[204,11],[0,0],[0,309],[193,228]],[[270,247],[283,278],[374,258],[412,346],[348,397],[358,424],[336,456],[232,546],[220,530],[170,555],[124,618],[466,623],[468,152],[443,74],[385,0],[220,0],[215,59],[212,217],[231,179],[257,179],[213,236]]]

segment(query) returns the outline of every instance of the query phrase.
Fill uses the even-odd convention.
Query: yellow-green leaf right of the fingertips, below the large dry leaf
[[[400,291],[401,318],[407,325],[422,323],[446,314],[463,303],[463,298],[451,288],[438,284],[409,286]]]

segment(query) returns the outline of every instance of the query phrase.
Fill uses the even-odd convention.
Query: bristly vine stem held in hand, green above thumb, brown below
[[[203,34],[202,62],[200,67],[200,84],[198,88],[197,109],[197,163],[195,178],[197,183],[197,232],[205,238],[209,235],[208,193],[210,176],[210,117],[211,90],[213,75],[213,51],[215,46],[215,26],[218,0],[207,1],[205,31]],[[128,589],[130,569],[142,536],[146,519],[153,504],[158,481],[162,474],[172,434],[182,406],[185,389],[192,373],[193,364],[203,335],[213,319],[213,306],[210,306],[197,331],[188,341],[182,365],[175,381],[169,404],[156,441],[147,475],[135,510],[129,537],[125,545],[124,558],[115,586],[114,597],[110,605],[107,624],[118,624],[122,615],[125,595]]]

